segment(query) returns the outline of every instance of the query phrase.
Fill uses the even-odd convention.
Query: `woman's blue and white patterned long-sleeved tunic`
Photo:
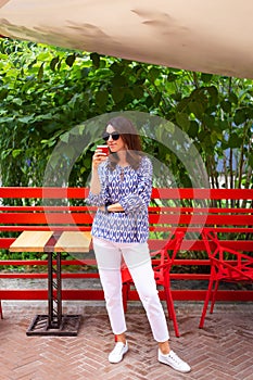
[[[141,157],[136,170],[119,165],[110,170],[107,161],[99,165],[101,192],[93,194],[90,191],[87,203],[102,206],[118,202],[125,212],[98,210],[91,230],[93,237],[119,243],[143,243],[148,240],[152,172],[151,161],[147,156]]]

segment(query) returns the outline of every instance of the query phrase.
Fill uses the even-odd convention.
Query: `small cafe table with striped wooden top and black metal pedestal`
[[[62,313],[61,254],[89,252],[90,232],[23,231],[10,252],[38,252],[48,255],[48,314],[36,315],[27,335],[77,335],[81,316]]]

